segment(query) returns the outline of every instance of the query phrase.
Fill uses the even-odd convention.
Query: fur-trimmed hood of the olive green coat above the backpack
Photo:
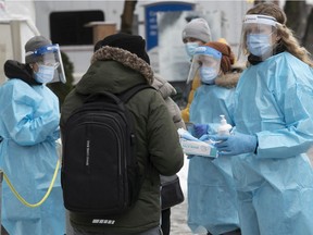
[[[153,83],[151,66],[136,54],[105,46],[97,50],[91,64],[76,86],[76,91],[89,95],[103,90],[120,94],[137,84]]]

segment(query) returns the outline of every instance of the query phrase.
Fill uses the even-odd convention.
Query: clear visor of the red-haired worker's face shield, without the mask
[[[200,46],[196,49],[191,66],[189,70],[187,84],[192,82],[197,72],[201,67],[211,69],[211,72],[218,74],[221,69],[222,53],[214,48],[208,46]]]

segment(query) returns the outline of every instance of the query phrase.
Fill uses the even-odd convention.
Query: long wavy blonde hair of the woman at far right
[[[277,35],[281,37],[278,41],[278,46],[285,46],[289,53],[293,54],[310,66],[313,66],[313,61],[310,59],[310,52],[304,47],[300,46],[299,41],[293,36],[292,30],[286,26],[287,16],[277,4],[263,2],[248,10],[247,14],[262,14],[275,17],[276,21],[280,23],[280,25],[277,24],[276,26]],[[246,46],[243,45],[243,47]]]

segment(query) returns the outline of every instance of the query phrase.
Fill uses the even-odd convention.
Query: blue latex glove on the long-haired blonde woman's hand
[[[210,139],[217,143],[214,147],[218,150],[218,156],[236,156],[241,153],[254,152],[258,138],[254,135],[235,133],[228,136],[209,136]]]

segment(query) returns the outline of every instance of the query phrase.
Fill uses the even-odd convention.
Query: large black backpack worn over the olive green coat
[[[142,184],[133,120],[125,107],[149,85],[122,95],[103,91],[87,98],[65,123],[61,183],[64,206],[73,212],[112,215],[129,209]]]

